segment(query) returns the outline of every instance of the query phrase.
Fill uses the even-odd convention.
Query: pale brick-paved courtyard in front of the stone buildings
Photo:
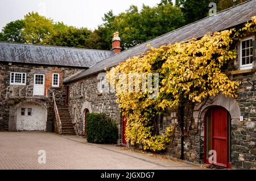
[[[46,164],[38,163],[39,150],[46,151]],[[89,144],[78,136],[0,132],[0,169],[171,170],[201,167],[119,146]]]

